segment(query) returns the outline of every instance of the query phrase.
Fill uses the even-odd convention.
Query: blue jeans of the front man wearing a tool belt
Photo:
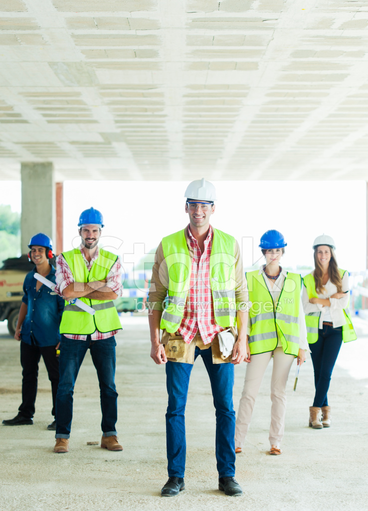
[[[212,349],[195,346],[194,361],[201,355],[211,382],[216,409],[216,460],[218,477],[235,476],[235,411],[233,407],[234,365],[213,364]],[[166,412],[167,472],[169,477],[184,477],[185,405],[192,364],[166,363],[168,406]]]

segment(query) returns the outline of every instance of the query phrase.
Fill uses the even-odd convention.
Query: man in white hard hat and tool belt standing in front
[[[248,293],[242,287],[240,249],[232,236],[209,223],[216,199],[212,183],[205,179],[192,181],[185,197],[189,225],[162,239],[149,293],[151,357],[156,364],[166,364],[168,392],[169,478],[161,495],[178,495],[185,487],[184,412],[190,373],[198,356],[207,369],[216,409],[218,489],[227,495],[241,495],[234,478],[232,400],[234,365],[249,359]],[[201,424],[199,429],[203,432]]]

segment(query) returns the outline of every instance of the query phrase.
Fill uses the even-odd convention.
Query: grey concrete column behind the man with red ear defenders
[[[50,236],[55,246],[55,183],[51,162],[22,163],[22,212],[20,239],[22,253],[28,252],[30,238],[36,233]]]

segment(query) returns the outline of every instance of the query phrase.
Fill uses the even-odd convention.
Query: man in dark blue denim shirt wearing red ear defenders
[[[64,300],[50,288],[42,286],[34,276],[46,277],[55,285],[55,268],[50,264],[53,256],[51,238],[43,233],[32,236],[28,245],[28,259],[35,267],[23,283],[23,298],[20,306],[14,339],[20,341],[20,364],[22,366],[22,403],[13,419],[3,421],[5,426],[33,424],[37,396],[38,364],[41,359],[46,366],[53,396],[52,415],[55,418],[56,392],[59,383],[59,325],[64,309]],[[55,420],[47,429],[55,430]]]

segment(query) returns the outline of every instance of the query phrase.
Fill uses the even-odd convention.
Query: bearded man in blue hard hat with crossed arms
[[[122,451],[117,442],[117,392],[115,389],[115,337],[121,329],[112,302],[121,296],[121,266],[117,255],[97,246],[104,227],[100,211],[90,207],[81,213],[79,248],[63,252],[56,261],[55,291],[65,298],[60,324],[60,382],[56,398],[56,445],[54,452],[69,451],[73,390],[78,371],[90,350],[100,383],[103,436],[101,447]],[[78,307],[75,299],[94,309]]]

